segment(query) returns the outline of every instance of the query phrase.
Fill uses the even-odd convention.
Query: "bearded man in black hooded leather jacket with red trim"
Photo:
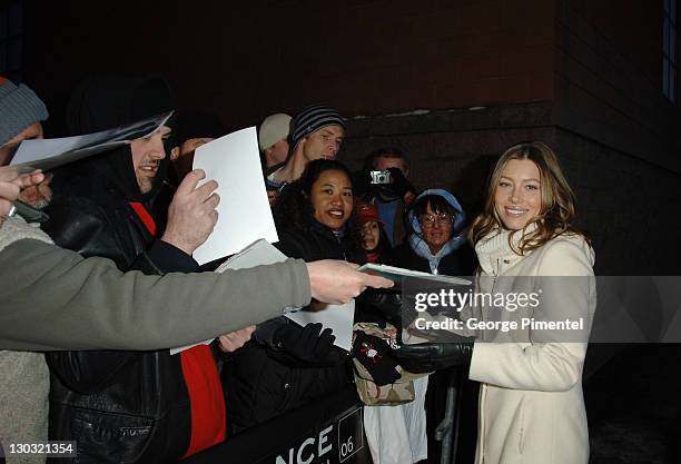
[[[92,132],[162,113],[172,98],[160,78],[93,78],[73,95],[72,132]],[[73,164],[55,175],[50,220],[43,229],[57,245],[112,259],[121,270],[145,274],[193,273],[191,257],[219,198],[215,181],[197,189],[206,217],[169,210],[157,238],[152,203],[167,168],[162,126],[129,146]],[[181,191],[180,191],[181,194]],[[204,224],[197,219],[204,218]],[[213,223],[213,224],[210,224]],[[216,349],[219,352],[219,343]],[[226,346],[223,345],[223,349]],[[48,355],[55,374],[50,392],[50,435],[78,440],[80,462],[179,460],[225,440],[225,406],[211,347],[177,355],[167,351],[61,352]],[[200,423],[199,423],[200,421]],[[80,434],[86,427],[90,434]],[[135,435],[125,431],[144,431]]]

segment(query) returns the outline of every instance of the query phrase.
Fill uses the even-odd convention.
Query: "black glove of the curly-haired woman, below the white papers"
[[[324,364],[334,348],[336,337],[330,328],[322,330],[320,323],[300,327],[287,324],[274,334],[275,349],[310,364]]]

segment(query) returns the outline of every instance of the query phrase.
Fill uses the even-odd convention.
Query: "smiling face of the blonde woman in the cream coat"
[[[510,230],[520,230],[542,209],[541,175],[529,159],[511,159],[494,190],[494,211]]]

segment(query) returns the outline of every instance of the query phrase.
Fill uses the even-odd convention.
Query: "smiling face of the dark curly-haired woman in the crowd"
[[[310,189],[314,217],[329,229],[337,230],[353,211],[353,185],[343,171],[329,169],[319,175]]]

